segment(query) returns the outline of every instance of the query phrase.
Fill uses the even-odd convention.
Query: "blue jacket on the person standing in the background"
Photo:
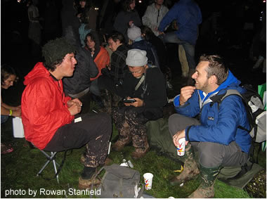
[[[180,0],[174,4],[162,19],[158,30],[163,32],[173,20],[176,20],[178,25],[178,30],[176,30],[177,37],[195,45],[198,25],[202,23],[202,14],[195,1]]]

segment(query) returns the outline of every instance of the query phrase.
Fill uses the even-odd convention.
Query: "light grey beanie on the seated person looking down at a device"
[[[140,67],[148,63],[146,51],[139,49],[131,49],[128,51],[126,58],[126,65],[131,67]]]

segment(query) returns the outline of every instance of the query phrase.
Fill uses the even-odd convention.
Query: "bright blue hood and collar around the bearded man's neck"
[[[215,91],[210,92],[209,94],[207,94],[206,97],[203,95],[203,91],[198,90],[198,92],[199,92],[200,98],[202,100],[204,98],[207,99],[207,98],[209,98],[209,96],[214,95],[214,94],[219,93],[219,92],[220,92],[220,94],[223,94],[228,89],[237,89],[237,91],[240,91],[240,93],[242,93],[243,91],[242,91],[242,88],[239,86],[240,84],[241,84],[241,82],[233,75],[232,72],[230,72],[230,70],[228,70],[228,77]]]

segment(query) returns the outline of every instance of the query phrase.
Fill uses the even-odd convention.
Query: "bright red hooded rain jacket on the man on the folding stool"
[[[25,139],[39,149],[44,149],[58,128],[69,124],[74,119],[67,109],[62,80],[56,81],[37,63],[25,76],[26,86],[22,94],[21,111]]]

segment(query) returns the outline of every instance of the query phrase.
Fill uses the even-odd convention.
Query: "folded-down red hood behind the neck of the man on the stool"
[[[37,63],[34,68],[24,77],[25,80],[23,84],[27,86],[31,82],[34,81],[34,79],[39,77],[50,77],[50,72],[46,68],[44,68],[44,64],[39,62]]]

